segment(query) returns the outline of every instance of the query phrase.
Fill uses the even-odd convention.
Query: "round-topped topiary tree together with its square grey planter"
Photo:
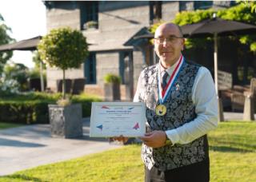
[[[50,128],[52,137],[82,136],[82,106],[71,105],[66,97],[65,71],[78,68],[88,55],[86,38],[78,30],[59,28],[51,30],[38,44],[42,61],[62,69],[62,98],[58,105],[49,105]]]

